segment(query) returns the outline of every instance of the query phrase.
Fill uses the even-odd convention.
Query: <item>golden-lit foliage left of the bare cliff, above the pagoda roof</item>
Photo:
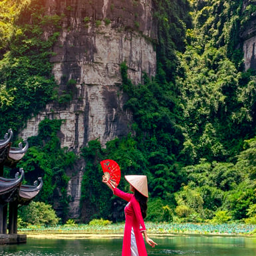
[[[0,2],[1,134],[10,127],[16,134],[28,118],[55,98],[49,57],[59,37],[61,17],[43,13],[41,1]],[[49,32],[47,39],[44,31]]]

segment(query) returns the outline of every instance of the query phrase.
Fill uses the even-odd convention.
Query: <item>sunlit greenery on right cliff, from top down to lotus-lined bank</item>
[[[243,13],[243,1],[191,2],[194,27],[180,55],[184,75],[176,78],[185,128],[180,157],[188,165],[176,213],[184,221],[242,220],[255,203],[255,72],[243,70],[237,39],[253,4]]]

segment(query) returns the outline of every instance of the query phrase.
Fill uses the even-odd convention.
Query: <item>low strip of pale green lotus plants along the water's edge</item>
[[[256,235],[256,225],[243,223],[146,223],[149,235]],[[122,237],[124,223],[109,225],[57,225],[55,227],[29,226],[19,229],[18,233],[27,234],[27,237],[38,238],[106,238]]]

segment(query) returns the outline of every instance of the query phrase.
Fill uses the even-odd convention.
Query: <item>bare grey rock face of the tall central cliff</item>
[[[90,140],[99,138],[104,146],[128,134],[132,115],[123,109],[120,63],[126,61],[134,83],[142,82],[142,72],[156,73],[151,0],[45,0],[45,7],[47,15],[63,16],[51,59],[63,103],[48,104],[20,135],[37,135],[39,122],[46,117],[62,119],[61,145],[78,153]],[[72,100],[65,101],[70,95]],[[84,164],[78,166],[68,184],[72,218],[79,217]]]

